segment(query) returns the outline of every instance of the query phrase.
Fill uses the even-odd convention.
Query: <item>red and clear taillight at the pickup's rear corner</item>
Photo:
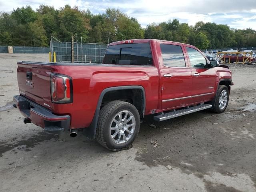
[[[72,102],[72,78],[62,74],[51,73],[51,96],[53,103]]]

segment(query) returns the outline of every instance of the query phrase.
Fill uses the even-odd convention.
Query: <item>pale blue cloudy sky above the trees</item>
[[[203,21],[256,30],[256,0],[0,0],[0,11],[26,5],[36,10],[40,4],[54,8],[69,4],[93,14],[103,13],[108,7],[118,8],[137,18],[143,28],[152,22],[178,19],[189,25]]]

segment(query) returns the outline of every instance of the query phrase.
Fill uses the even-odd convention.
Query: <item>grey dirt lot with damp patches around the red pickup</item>
[[[148,116],[130,150],[110,152],[82,134],[23,124],[11,106],[18,60],[48,55],[0,54],[0,191],[256,191],[255,65],[230,65],[235,85],[225,113]]]

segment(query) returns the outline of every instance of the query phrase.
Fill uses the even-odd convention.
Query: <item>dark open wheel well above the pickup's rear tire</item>
[[[125,101],[130,104],[133,104],[137,108],[140,114],[140,118],[142,119],[144,115],[144,107],[145,107],[144,99],[145,99],[144,94],[140,89],[112,90],[104,94],[100,108],[102,108],[107,103],[114,100]]]

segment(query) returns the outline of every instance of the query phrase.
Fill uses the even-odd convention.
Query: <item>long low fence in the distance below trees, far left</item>
[[[50,47],[12,46],[13,53],[49,53]],[[8,46],[0,46],[0,53],[8,53]]]

